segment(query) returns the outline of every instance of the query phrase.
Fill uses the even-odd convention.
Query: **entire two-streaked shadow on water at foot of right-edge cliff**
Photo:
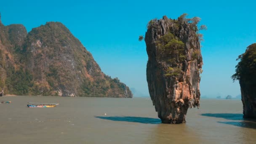
[[[243,114],[232,114],[232,113],[205,113],[201,114],[202,116],[206,117],[218,117],[224,118],[227,120],[237,120],[237,121],[228,121],[228,122],[217,122],[223,123],[227,125],[235,125],[243,128],[254,128],[256,129],[256,120],[253,119],[245,119],[243,118]]]

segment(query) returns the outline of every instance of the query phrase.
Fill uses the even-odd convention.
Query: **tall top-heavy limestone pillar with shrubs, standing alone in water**
[[[151,20],[145,35],[149,94],[162,123],[186,123],[189,107],[200,105],[202,56],[199,18]]]

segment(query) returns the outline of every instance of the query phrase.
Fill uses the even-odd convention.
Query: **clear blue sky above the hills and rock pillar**
[[[182,13],[200,17],[208,27],[202,42],[202,96],[236,96],[232,83],[236,58],[256,43],[256,11],[253,0],[3,0],[0,12],[4,25],[24,24],[28,32],[47,21],[60,21],[90,51],[111,77],[148,94],[147,53],[139,35],[150,19],[163,15],[176,19]]]

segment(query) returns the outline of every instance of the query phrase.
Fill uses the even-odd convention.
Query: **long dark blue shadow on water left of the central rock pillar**
[[[146,123],[146,124],[159,124],[161,123],[160,119],[150,118],[150,117],[99,117],[104,120],[113,120],[113,121],[122,121],[122,122],[133,122],[133,123]]]

